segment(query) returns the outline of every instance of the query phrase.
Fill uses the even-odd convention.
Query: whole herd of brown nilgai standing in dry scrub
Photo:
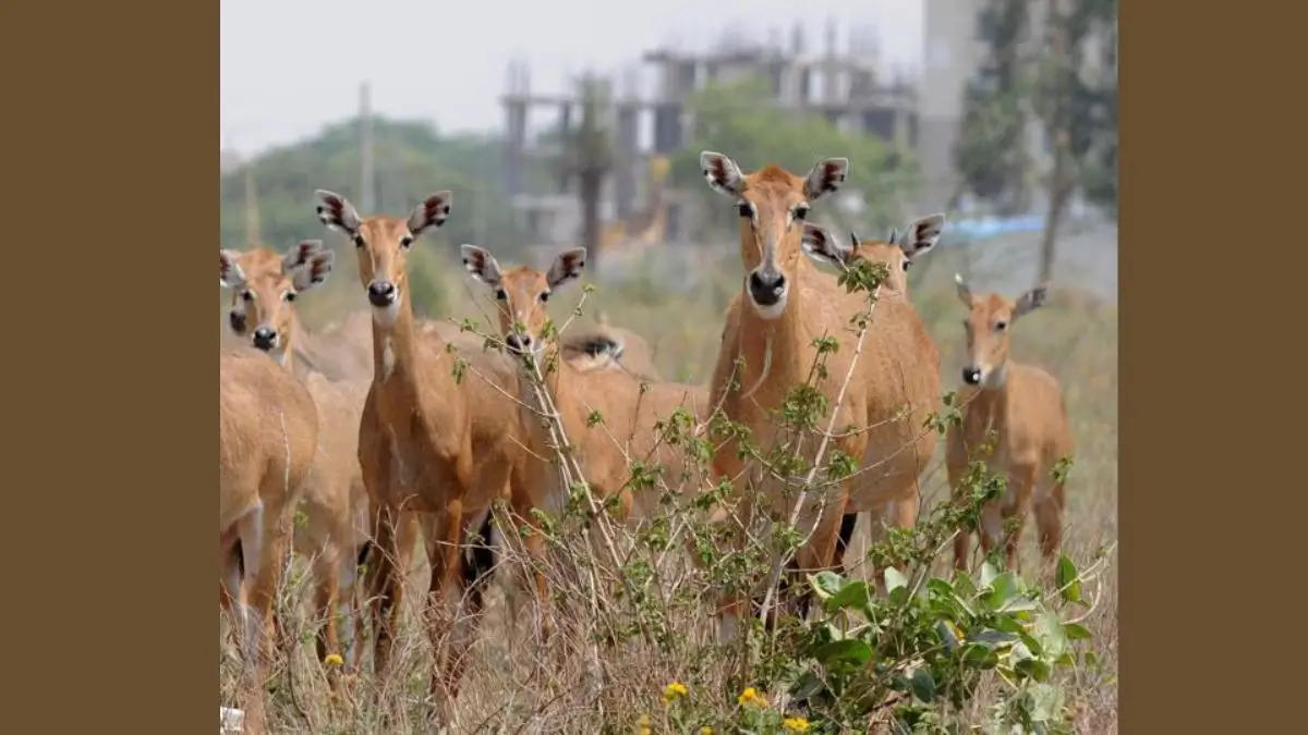
[[[296,301],[327,280],[331,248],[305,241],[285,254],[263,247],[220,252],[221,285],[232,293],[230,331],[243,343],[220,358],[220,600],[243,657],[267,658],[280,626],[273,603],[290,545],[311,560],[314,620],[322,623],[317,653],[332,663],[332,685],[339,687],[341,668],[362,660],[364,636],[353,636],[354,646],[344,651],[347,636],[337,630],[354,620],[360,586],[370,600],[373,666],[386,672],[405,570],[421,539],[432,568],[429,633],[437,643],[430,687],[447,705],[462,654],[473,642],[480,579],[494,565],[493,545],[472,541],[489,539],[504,521],[513,523],[508,528],[536,528],[534,509],[562,507],[568,487],[549,459],[560,437],[591,493],[612,501],[629,523],[654,511],[659,498],[633,492],[628,455],[612,436],[630,437],[625,450],[632,456],[649,455],[675,475],[684,456],[658,441],[657,422],[679,407],[702,422],[714,407],[747,426],[756,446],[769,446],[778,432],[774,411],[795,385],[811,379],[819,337],[848,335],[850,316],[866,309],[866,296],[838,285],[832,272],[858,259],[884,263],[888,277],[863,339],[829,353],[815,386],[833,405],[833,426],[861,428],[831,434],[831,443],[863,470],[799,514],[799,527],[812,531],[797,566],[840,568],[857,514],[899,527],[916,523],[918,477],[935,449],[923,424],[939,400],[940,361],[908,298],[906,272],[935,246],[944,217],[922,217],[886,241],[854,235],[846,243],[807,220],[811,207],[845,180],[848,160],[820,161],[804,177],[774,165],[746,174],[712,152],[700,162],[709,187],[739,212],[743,267],[708,386],[658,379],[647,362],[633,369],[627,348],[642,340],[620,328],[600,323],[578,335],[549,327],[547,301],[581,277],[585,248],[559,254],[540,272],[508,268],[481,247],[462,246],[463,267],[497,301],[502,350],[484,349],[483,337],[451,322],[416,316],[408,256],[450,217],[450,191],[428,196],[407,217],[364,217],[345,197],[315,192],[319,221],[354,245],[368,299],[366,310],[323,333],[300,323]],[[957,489],[973,450],[990,443],[985,460],[1007,477],[1007,492],[982,513],[982,547],[1006,544],[1011,565],[1033,510],[1049,560],[1061,539],[1063,487],[1053,468],[1071,453],[1067,413],[1053,377],[1008,357],[1014,323],[1041,306],[1046,290],[1012,301],[956,280],[967,307],[967,365],[963,421],[946,441],[950,483]],[[534,362],[522,357],[544,354],[560,358],[539,391],[540,381],[526,371]],[[561,432],[525,408],[540,400],[552,405]],[[603,429],[593,426],[596,411]],[[746,481],[744,463],[727,443],[714,453],[712,473],[731,479],[738,493],[763,493],[764,507],[786,515],[791,504],[782,483]],[[509,517],[493,507],[508,507]],[[532,557],[545,551],[542,534],[525,534],[523,543]],[[965,535],[957,538],[959,568],[968,562],[968,547]],[[545,632],[547,581],[539,565],[531,568],[521,582],[539,603]],[[356,581],[358,569],[366,570],[364,585]],[[748,604],[727,595],[718,600],[719,638],[739,634]]]

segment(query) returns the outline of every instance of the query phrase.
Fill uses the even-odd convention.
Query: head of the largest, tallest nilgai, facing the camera
[[[709,188],[731,197],[740,216],[740,260],[749,303],[763,319],[780,318],[795,279],[808,209],[840,188],[849,174],[849,160],[819,161],[807,177],[776,165],[742,174],[731,158],[705,150],[700,153],[700,169]]]

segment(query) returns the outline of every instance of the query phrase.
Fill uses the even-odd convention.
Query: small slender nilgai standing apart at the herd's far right
[[[1067,404],[1053,375],[1008,357],[1012,324],[1044,305],[1046,289],[1036,286],[1010,301],[995,293],[974,294],[961,276],[954,277],[959,299],[968,307],[963,320],[968,350],[960,391],[963,424],[946,436],[950,484],[959,492],[968,464],[977,459],[1005,476],[1005,496],[981,511],[981,545],[989,553],[1001,540],[1003,521],[1012,519],[1005,556],[1015,569],[1018,541],[1033,506],[1048,564],[1062,541],[1063,481],[1054,468],[1073,453]],[[954,564],[960,569],[967,566],[969,536],[960,534],[954,541]]]

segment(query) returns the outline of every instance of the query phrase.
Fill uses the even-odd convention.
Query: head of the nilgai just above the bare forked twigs
[[[490,252],[475,245],[464,245],[460,250],[468,273],[494,290],[500,333],[509,350],[515,354],[539,352],[544,347],[548,319],[545,302],[556,288],[581,277],[586,248],[560,252],[544,273],[526,265],[504,271]]]

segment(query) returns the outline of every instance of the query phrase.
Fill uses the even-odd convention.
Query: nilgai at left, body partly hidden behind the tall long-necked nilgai
[[[266,247],[246,252],[222,251],[233,264],[225,276],[239,303],[232,310],[232,331],[245,335],[309,388],[318,408],[318,451],[305,481],[303,524],[294,532],[294,548],[311,560],[315,581],[318,660],[339,654],[337,617],[352,619],[354,577],[360,552],[368,549],[368,492],[358,466],[358,421],[368,395],[368,378],[330,379],[300,364],[301,324],[298,294],[327,280],[332,251],[320,241],[305,241],[284,256]],[[337,615],[339,613],[339,615]],[[332,676],[336,684],[337,677]]]

